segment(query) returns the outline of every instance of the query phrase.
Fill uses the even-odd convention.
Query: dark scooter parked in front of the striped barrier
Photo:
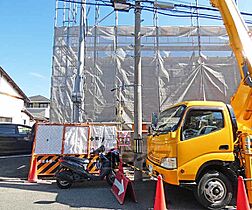
[[[106,177],[109,185],[112,185],[115,180],[115,169],[120,162],[119,151],[116,149],[110,150],[107,154],[103,154],[105,147],[102,145],[91,154],[98,154],[99,161],[96,162],[96,167],[99,169],[99,174],[91,174],[88,171],[88,158],[77,158],[65,156],[60,158],[60,166],[55,174],[57,185],[61,189],[68,189],[74,182],[83,181],[99,181]]]

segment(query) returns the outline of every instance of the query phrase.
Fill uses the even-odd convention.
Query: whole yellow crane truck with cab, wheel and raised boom
[[[241,82],[231,105],[185,101],[152,116],[146,164],[153,174],[191,186],[208,209],[221,209],[236,196],[237,177],[252,204],[252,39],[233,0],[211,0],[222,15]]]

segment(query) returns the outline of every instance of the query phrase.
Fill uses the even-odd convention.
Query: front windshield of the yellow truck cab
[[[160,132],[175,131],[178,128],[185,106],[176,106],[160,113],[157,130]]]

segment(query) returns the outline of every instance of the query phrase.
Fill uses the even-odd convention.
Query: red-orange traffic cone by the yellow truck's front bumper
[[[166,210],[162,176],[158,175],[154,210]]]

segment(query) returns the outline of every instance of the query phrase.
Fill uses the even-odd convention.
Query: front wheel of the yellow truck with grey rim
[[[226,176],[213,170],[201,177],[194,194],[204,207],[222,209],[230,203],[233,197],[233,188]]]

